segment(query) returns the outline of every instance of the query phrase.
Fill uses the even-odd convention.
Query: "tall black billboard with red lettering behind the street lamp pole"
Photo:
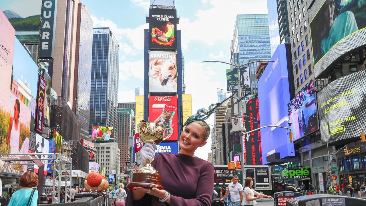
[[[258,98],[250,99],[246,104],[245,128],[250,131],[261,127],[259,123]],[[261,130],[248,133],[245,136],[245,151],[247,165],[262,165]],[[234,160],[235,161],[235,160]]]

